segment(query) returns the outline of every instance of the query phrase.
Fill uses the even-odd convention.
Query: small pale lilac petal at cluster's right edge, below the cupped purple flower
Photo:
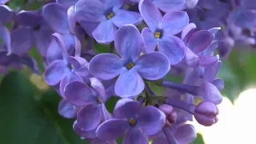
[[[199,55],[199,66],[208,67],[214,66],[218,62],[217,56]]]

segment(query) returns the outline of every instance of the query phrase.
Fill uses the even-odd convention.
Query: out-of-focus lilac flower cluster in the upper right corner
[[[200,0],[186,11],[198,29],[222,27],[216,39],[220,56],[226,58],[234,46],[255,47],[255,4],[251,0]]]

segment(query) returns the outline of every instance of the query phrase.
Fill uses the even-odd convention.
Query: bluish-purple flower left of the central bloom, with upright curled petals
[[[65,42],[63,41],[63,38],[60,34],[53,34],[55,41],[58,43],[58,47],[54,47],[54,49],[60,48],[60,53],[62,54],[61,58],[54,58],[56,54],[50,55],[51,59],[54,59],[53,62],[50,62],[50,64],[46,68],[46,72],[44,74],[44,78],[46,82],[50,86],[57,85],[58,82],[60,82],[60,94],[62,94],[62,97],[64,97],[64,90],[66,84],[73,81],[83,81],[82,77],[88,78],[89,74],[87,72],[87,64],[88,62],[84,58],[80,58],[79,55],[81,53],[81,44],[78,40],[78,38],[74,37],[75,39],[75,54],[74,56],[70,56],[67,53],[67,48],[65,46]]]

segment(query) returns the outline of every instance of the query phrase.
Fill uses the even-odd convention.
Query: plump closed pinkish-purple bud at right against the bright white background
[[[194,118],[203,126],[212,126],[218,122],[218,107],[208,101],[198,104],[194,110]]]

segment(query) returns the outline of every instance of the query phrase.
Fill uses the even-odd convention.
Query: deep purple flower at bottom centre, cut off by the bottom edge
[[[140,102],[123,98],[117,102],[113,118],[98,126],[96,134],[106,141],[125,134],[123,144],[147,144],[148,135],[157,134],[165,122],[165,114],[154,106],[142,108]]]

